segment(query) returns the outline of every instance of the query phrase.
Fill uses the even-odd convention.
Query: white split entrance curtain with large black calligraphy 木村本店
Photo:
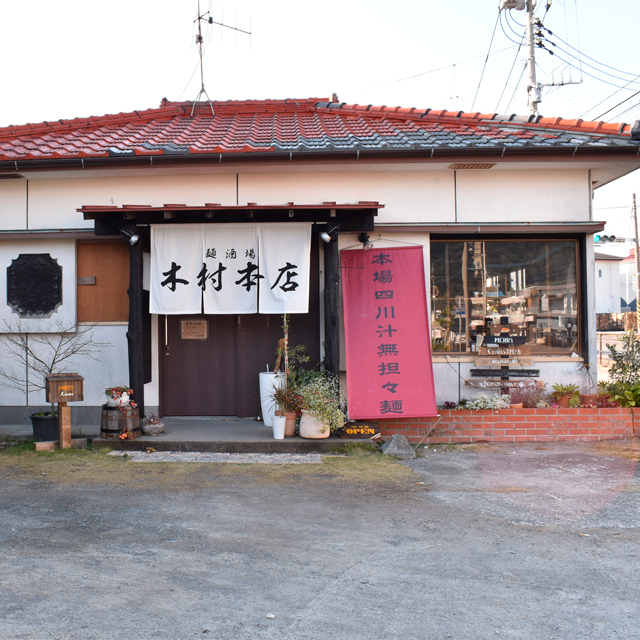
[[[152,225],[151,245],[151,313],[308,312],[311,223]]]

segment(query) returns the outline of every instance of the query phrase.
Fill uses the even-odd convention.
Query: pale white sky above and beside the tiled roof
[[[637,0],[538,0],[540,113],[640,119]],[[0,0],[0,126],[157,107],[200,89],[197,0]],[[529,114],[522,11],[498,0],[201,0],[213,100],[347,103]],[[555,43],[555,46],[551,42]],[[595,76],[595,77],[594,77]],[[629,236],[640,172],[596,190],[594,217]],[[611,245],[612,247],[612,245]],[[626,254],[628,246],[618,245]],[[609,247],[608,247],[609,249]],[[604,250],[604,248],[603,248]],[[608,251],[613,253],[613,251]]]

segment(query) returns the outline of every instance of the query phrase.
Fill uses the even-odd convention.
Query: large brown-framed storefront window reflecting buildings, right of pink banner
[[[434,352],[514,337],[531,354],[579,349],[577,242],[431,242]]]

